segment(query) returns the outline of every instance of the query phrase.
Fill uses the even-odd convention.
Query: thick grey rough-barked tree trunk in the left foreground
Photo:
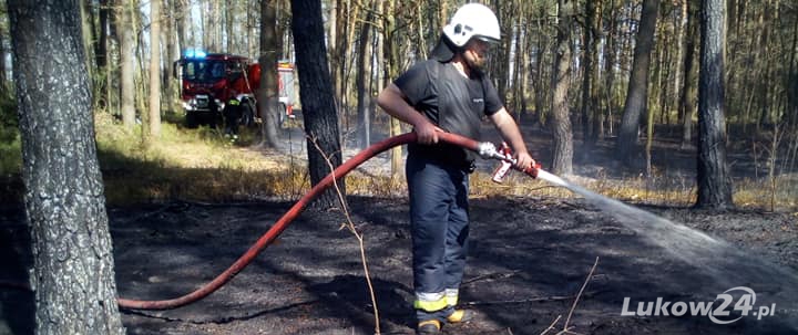
[[[35,334],[125,334],[78,2],[10,0],[8,9]]]

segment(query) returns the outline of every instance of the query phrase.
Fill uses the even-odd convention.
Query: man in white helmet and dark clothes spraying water
[[[438,334],[473,311],[456,308],[469,234],[469,174],[473,154],[438,143],[438,132],[479,139],[488,117],[515,151],[518,166],[534,160],[518,125],[485,74],[490,48],[500,41],[499,21],[479,3],[459,8],[430,59],[416,63],[378,97],[391,116],[413,126],[406,175],[412,231],[413,307],[418,334]]]

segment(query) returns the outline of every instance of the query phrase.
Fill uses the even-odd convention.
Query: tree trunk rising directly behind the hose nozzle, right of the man
[[[557,175],[573,172],[573,130],[571,128],[569,106],[569,84],[571,83],[571,18],[573,0],[559,0],[557,46],[554,61],[552,97],[552,135],[554,136],[554,158],[552,171]]]

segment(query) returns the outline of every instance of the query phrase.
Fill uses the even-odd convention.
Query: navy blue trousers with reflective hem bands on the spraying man
[[[451,314],[466,268],[468,171],[410,153],[407,158],[412,230],[413,306],[419,321]]]

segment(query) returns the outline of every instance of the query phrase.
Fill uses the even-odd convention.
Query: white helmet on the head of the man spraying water
[[[443,34],[461,48],[471,40],[478,38],[488,42],[501,40],[499,19],[493,11],[481,3],[468,3],[458,9],[447,27],[443,27]]]

